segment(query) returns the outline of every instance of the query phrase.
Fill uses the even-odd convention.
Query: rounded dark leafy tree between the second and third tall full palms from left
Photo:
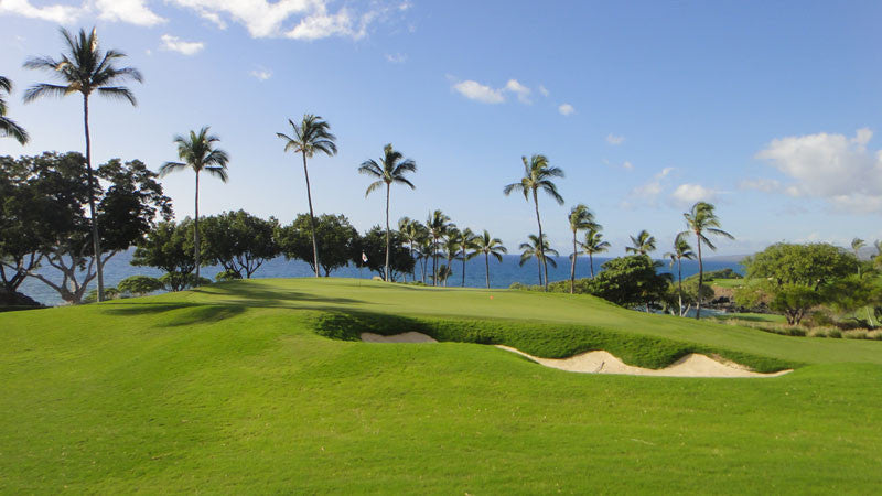
[[[238,279],[250,279],[263,262],[281,252],[275,239],[279,222],[273,217],[263,220],[238,211],[206,217],[202,222],[205,259],[220,265]]]

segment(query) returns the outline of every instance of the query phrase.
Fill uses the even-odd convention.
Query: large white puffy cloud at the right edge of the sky
[[[784,192],[817,197],[846,212],[882,209],[882,152],[869,151],[873,132],[859,129],[853,138],[826,132],[772,140],[756,154],[788,176]]]

